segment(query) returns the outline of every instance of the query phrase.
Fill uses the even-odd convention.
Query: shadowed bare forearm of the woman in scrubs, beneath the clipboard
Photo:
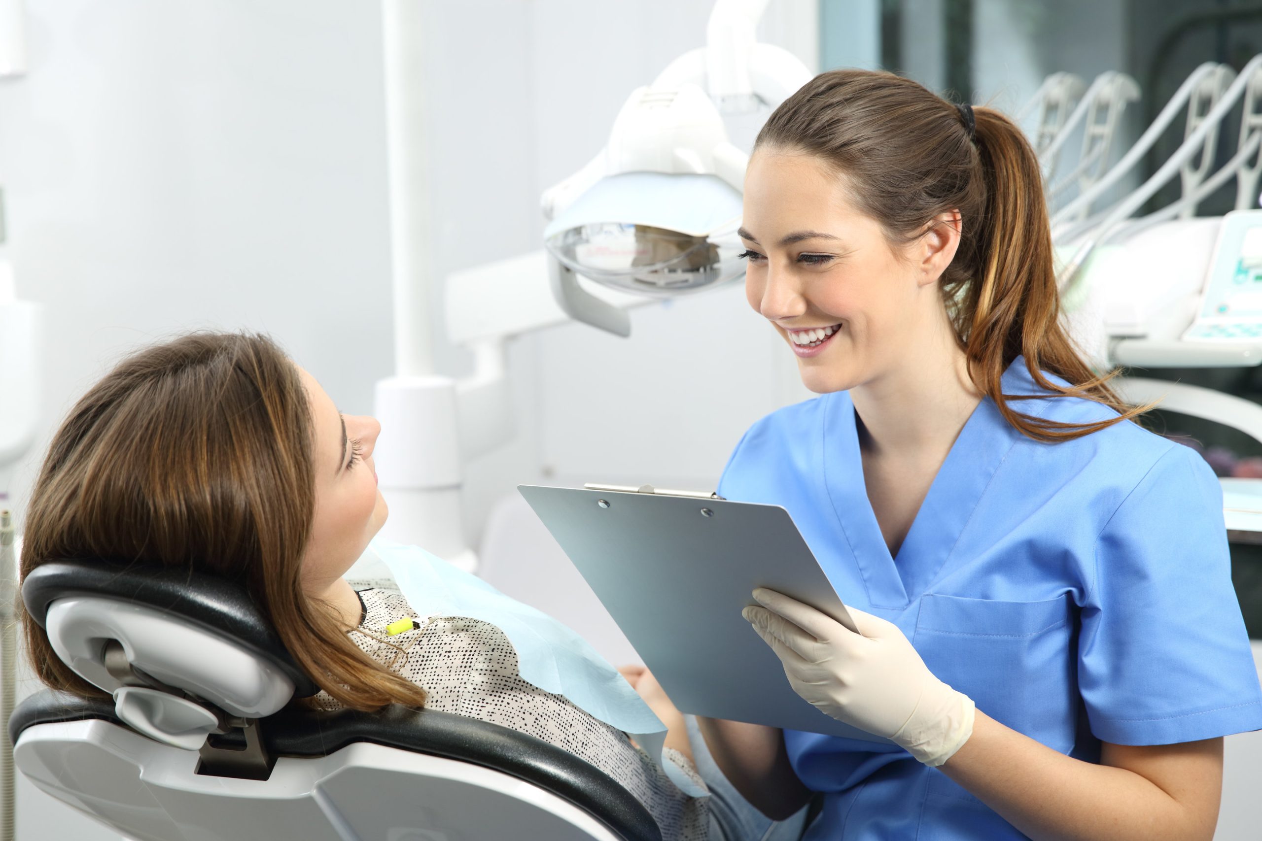
[[[741,796],[774,821],[794,815],[810,799],[777,728],[697,716],[705,746]]]

